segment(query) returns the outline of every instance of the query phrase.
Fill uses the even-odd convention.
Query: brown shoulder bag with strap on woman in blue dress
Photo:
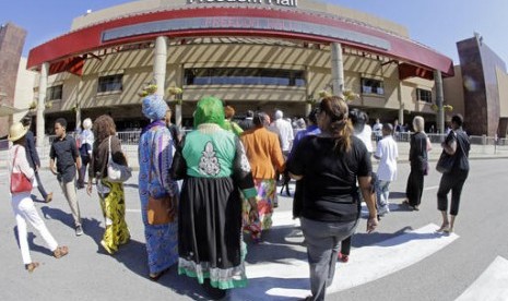
[[[149,167],[149,185],[152,183],[152,168],[153,168],[153,152],[155,152],[154,143],[152,141],[152,152],[150,153],[150,167]],[[176,216],[176,198],[169,194],[162,197],[154,197],[150,195],[146,204],[146,221],[149,225],[166,225],[173,222]]]

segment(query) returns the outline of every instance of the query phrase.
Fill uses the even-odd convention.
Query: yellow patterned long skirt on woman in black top
[[[126,198],[123,184],[111,183],[102,180],[103,186],[109,190],[108,193],[99,193],[101,208],[106,222],[103,240],[101,244],[110,254],[118,251],[118,246],[125,244],[130,239],[129,229],[126,222]]]

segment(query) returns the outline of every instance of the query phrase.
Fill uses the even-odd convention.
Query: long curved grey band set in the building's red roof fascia
[[[390,43],[383,38],[351,29],[303,21],[253,16],[184,17],[146,22],[104,31],[103,43],[139,35],[203,29],[284,32],[351,41],[382,50],[391,48]]]

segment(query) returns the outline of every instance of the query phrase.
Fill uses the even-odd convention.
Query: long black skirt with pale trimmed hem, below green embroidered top
[[[241,200],[231,178],[188,178],[178,208],[178,274],[218,289],[245,287]]]

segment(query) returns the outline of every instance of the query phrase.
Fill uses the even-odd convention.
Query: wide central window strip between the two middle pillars
[[[305,86],[302,70],[259,68],[194,68],[185,70],[186,85],[277,85]]]

